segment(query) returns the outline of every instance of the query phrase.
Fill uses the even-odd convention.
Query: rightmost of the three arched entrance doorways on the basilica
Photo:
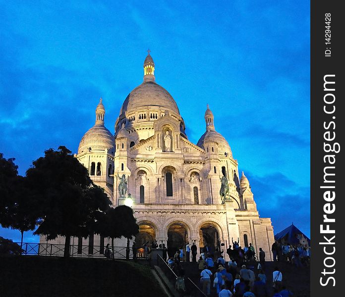
[[[214,254],[216,248],[220,249],[219,233],[212,223],[204,223],[200,227],[200,252]]]

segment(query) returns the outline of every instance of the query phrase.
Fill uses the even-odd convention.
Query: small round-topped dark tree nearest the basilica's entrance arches
[[[111,207],[106,212],[100,234],[112,239],[114,253],[115,238],[125,237],[131,239],[132,236],[135,236],[138,232],[139,226],[136,223],[132,208],[126,205],[120,205],[115,208]]]

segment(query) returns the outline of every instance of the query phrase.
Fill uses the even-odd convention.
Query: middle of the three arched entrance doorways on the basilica
[[[187,229],[182,223],[173,223],[168,229],[168,255],[173,257],[176,250],[181,247],[185,249],[185,243],[188,241]]]

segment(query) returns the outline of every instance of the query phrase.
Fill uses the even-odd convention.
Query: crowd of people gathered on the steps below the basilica
[[[201,288],[206,296],[210,296],[211,293],[213,295],[217,294],[218,297],[293,296],[292,292],[284,285],[283,273],[278,268],[278,265],[275,267],[272,275],[266,275],[266,254],[261,247],[259,248],[259,257],[257,258],[255,249],[251,244],[243,249],[239,246],[238,240],[237,242],[232,242],[232,244],[232,248],[230,246],[226,251],[230,257],[229,262],[226,262],[224,259],[224,251],[219,251],[218,249],[215,252],[208,252],[204,248],[204,252],[201,253],[197,265],[200,273]],[[297,267],[299,267],[299,264],[308,265],[310,254],[306,254],[304,251],[310,250],[309,248],[277,244],[275,242],[272,248],[275,249],[278,246],[282,252],[279,252],[277,249],[277,254],[274,253],[276,261],[290,261]],[[287,246],[289,249],[293,248],[292,253],[289,250],[290,254],[287,254]],[[181,265],[183,260],[181,250],[176,251],[175,255],[169,258],[168,265],[178,275],[176,290],[180,293],[180,296],[183,296],[185,287],[183,283],[184,269]],[[194,259],[192,259],[192,262],[194,262]],[[254,273],[254,270],[256,270],[256,273]],[[272,289],[267,285],[268,279],[273,284]]]

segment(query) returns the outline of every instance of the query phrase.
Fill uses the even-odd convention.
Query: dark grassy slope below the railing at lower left
[[[0,258],[1,296],[164,297],[149,267],[123,260]]]

